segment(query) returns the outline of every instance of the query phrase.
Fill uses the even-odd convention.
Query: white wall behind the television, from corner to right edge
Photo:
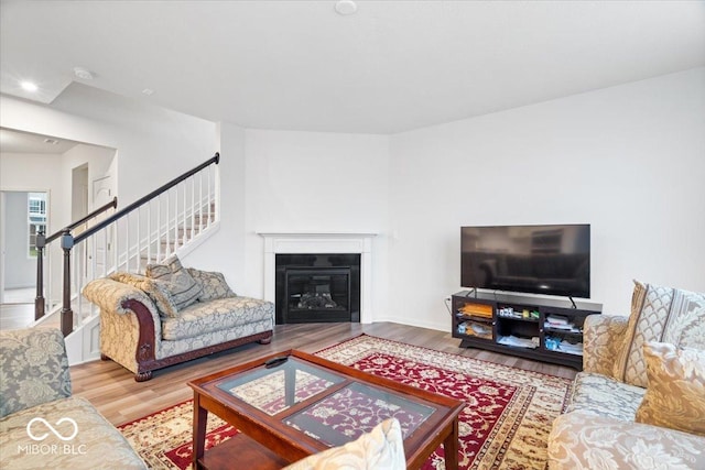
[[[449,328],[463,225],[592,223],[592,299],[705,292],[705,68],[391,138],[392,315]]]

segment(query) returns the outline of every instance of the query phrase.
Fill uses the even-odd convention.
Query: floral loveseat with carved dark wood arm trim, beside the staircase
[[[118,272],[91,281],[84,296],[100,308],[100,356],[134,373],[225,349],[268,343],[274,304],[236,295],[220,273],[183,267],[176,256],[145,275]]]

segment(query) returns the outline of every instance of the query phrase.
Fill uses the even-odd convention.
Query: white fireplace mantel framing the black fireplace
[[[276,254],[359,253],[360,323],[372,323],[371,232],[258,232],[264,239],[264,299],[275,302]]]

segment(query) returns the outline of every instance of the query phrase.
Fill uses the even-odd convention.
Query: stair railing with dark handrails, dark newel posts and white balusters
[[[45,320],[48,317],[46,315],[47,309],[52,313],[57,311],[53,308],[56,302],[52,295],[54,275],[51,265],[53,256],[47,250],[53,240],[61,238],[63,253],[61,277],[63,281],[61,283],[61,310],[58,311],[61,313],[61,328],[66,336],[75,329],[74,316],[79,323],[83,323],[97,315],[94,306],[90,307],[90,311],[85,311],[84,309],[80,291],[88,281],[106,276],[110,272],[118,270],[131,271],[133,265],[140,272],[143,270],[143,256],[147,256],[147,263],[162,261],[194,241],[197,236],[210,228],[212,222],[218,220],[218,205],[216,204],[218,195],[214,194],[213,190],[217,192],[219,189],[217,167],[215,166],[219,163],[219,156],[216,153],[215,156],[197,167],[172,179],[110,217],[104,218],[77,236],[72,233],[76,227],[86,223],[89,219],[95,218],[110,207],[115,209],[117,207],[117,198],[51,237],[39,233],[36,240],[37,289],[34,302],[35,320]],[[198,199],[196,199],[195,188],[196,175],[199,182]],[[214,175],[216,176],[216,184],[215,187],[212,187],[212,177]],[[204,177],[207,177],[208,182],[208,194],[205,195],[205,200],[203,195]],[[191,188],[188,188],[189,184]],[[182,197],[180,197],[178,185],[183,188]],[[172,193],[174,194],[173,203],[171,200]],[[188,196],[189,194],[191,197]],[[180,199],[182,199],[182,208],[180,208]],[[156,227],[153,228],[152,205],[154,204],[156,204],[154,208],[156,211]],[[206,206],[206,214],[204,214],[204,205]],[[213,212],[214,210],[215,212]],[[198,216],[196,211],[198,211]],[[207,220],[204,221],[203,217],[206,217]],[[143,219],[145,219],[144,225]],[[196,220],[198,220],[197,223]],[[197,232],[196,225],[198,225]],[[72,256],[72,250],[88,239],[94,240],[93,244],[83,245],[84,251],[78,250]],[[102,253],[98,252],[98,240],[102,240],[102,245],[100,247]],[[154,243],[155,247],[153,247]],[[154,254],[156,254],[155,258],[153,258]],[[44,256],[46,256],[46,260]],[[134,256],[134,263],[131,261],[132,256]],[[101,266],[99,260],[101,260]],[[108,264],[109,260],[112,260],[111,265]],[[45,287],[48,288],[48,298],[44,297]],[[75,305],[72,302],[75,302]],[[76,315],[74,315],[74,311],[76,311]]]

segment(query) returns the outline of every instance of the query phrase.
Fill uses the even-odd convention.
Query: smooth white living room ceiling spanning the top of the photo
[[[247,128],[394,133],[705,65],[704,1],[357,3],[3,0],[0,91],[76,80]]]

